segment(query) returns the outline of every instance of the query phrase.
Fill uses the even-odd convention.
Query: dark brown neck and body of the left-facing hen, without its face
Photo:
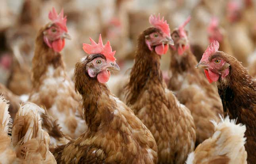
[[[237,59],[221,53],[231,65],[228,77],[217,82],[224,115],[246,125],[247,162],[253,164],[256,162],[256,80]]]

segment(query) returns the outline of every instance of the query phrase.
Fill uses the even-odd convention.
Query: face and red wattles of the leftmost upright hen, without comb
[[[43,33],[44,42],[56,52],[60,52],[64,48],[65,38],[70,39],[67,30],[57,23],[48,25],[48,28]]]

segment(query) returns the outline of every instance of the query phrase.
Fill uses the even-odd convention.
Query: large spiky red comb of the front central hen
[[[83,50],[88,54],[94,54],[94,53],[101,53],[103,54],[107,60],[115,61],[115,51],[112,51],[112,48],[110,46],[110,42],[108,41],[105,45],[102,43],[101,34],[99,36],[99,42],[98,44],[90,38],[91,44],[85,44],[83,43]]]

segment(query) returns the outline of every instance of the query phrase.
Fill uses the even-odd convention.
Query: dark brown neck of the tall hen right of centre
[[[133,65],[130,81],[127,84],[129,94],[127,103],[133,104],[137,100],[141,90],[151,81],[154,84],[163,86],[163,76],[160,70],[160,55],[155,51],[150,51],[145,43],[145,36],[141,34],[138,39],[138,48],[135,55],[135,63]],[[164,87],[164,86],[163,86]]]

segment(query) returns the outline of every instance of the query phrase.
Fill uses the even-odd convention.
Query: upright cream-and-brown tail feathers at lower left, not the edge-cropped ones
[[[15,116],[12,141],[21,162],[41,163],[51,159],[56,163],[49,153],[50,136],[42,129],[40,114],[44,112],[44,109],[34,103],[25,103]]]

